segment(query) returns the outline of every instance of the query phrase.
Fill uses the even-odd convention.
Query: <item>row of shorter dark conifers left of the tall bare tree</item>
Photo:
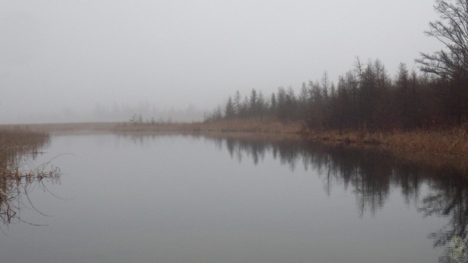
[[[357,59],[336,84],[324,72],[320,80],[303,82],[299,92],[291,86],[266,95],[237,91],[205,120],[273,117],[306,121],[311,128],[426,127],[461,121],[468,113],[468,104],[461,103],[466,95],[450,79],[418,74],[405,64],[391,78],[380,60]]]

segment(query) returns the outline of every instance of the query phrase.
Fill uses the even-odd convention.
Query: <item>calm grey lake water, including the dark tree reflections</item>
[[[111,134],[44,151],[35,163],[57,156],[61,184],[29,191],[48,216],[21,218],[46,226],[3,225],[1,262],[436,263],[455,262],[453,236],[467,242],[467,179],[378,152]]]

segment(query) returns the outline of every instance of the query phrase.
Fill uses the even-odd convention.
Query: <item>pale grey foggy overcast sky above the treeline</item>
[[[2,0],[0,116],[96,102],[211,108],[235,90],[264,94],[336,82],[359,56],[394,75],[419,52],[433,0]],[[5,119],[5,117],[3,117]],[[4,122],[0,120],[0,123]]]

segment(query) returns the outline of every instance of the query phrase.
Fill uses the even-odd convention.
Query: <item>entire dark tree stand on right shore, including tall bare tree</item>
[[[430,23],[428,36],[446,45],[433,55],[421,53],[419,69],[400,64],[391,78],[380,60],[362,63],[329,80],[302,83],[298,94],[292,87],[279,87],[265,98],[252,89],[242,98],[229,96],[206,121],[231,118],[276,118],[302,120],[311,128],[415,128],[450,125],[468,117],[468,1],[436,0],[442,21]]]

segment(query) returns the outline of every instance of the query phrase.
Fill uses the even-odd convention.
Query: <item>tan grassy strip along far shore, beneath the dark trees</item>
[[[437,130],[416,129],[369,132],[366,130],[306,129],[301,122],[272,120],[221,120],[192,123],[132,123],[132,122],[82,122],[48,124],[4,124],[0,130],[29,130],[35,132],[256,132],[296,134],[309,140],[324,143],[343,143],[353,147],[378,147],[395,152],[424,153],[450,158],[468,158],[468,123],[457,127]]]

